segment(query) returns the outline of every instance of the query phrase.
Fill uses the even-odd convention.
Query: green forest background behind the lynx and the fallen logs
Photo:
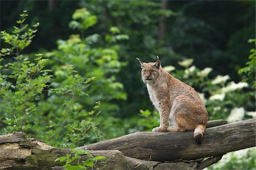
[[[209,120],[256,117],[255,1],[1,1],[0,27],[0,134],[71,148],[150,131],[159,116],[135,58],[156,55]],[[255,158],[238,151],[209,169]]]

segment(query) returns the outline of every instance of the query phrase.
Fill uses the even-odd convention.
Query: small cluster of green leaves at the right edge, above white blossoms
[[[246,62],[246,66],[242,69],[238,70],[239,74],[245,75],[245,78],[243,79],[243,82],[249,83],[252,87],[256,87],[256,51],[255,51],[255,45],[256,41],[255,39],[250,39],[248,42],[254,42],[254,48],[250,50],[250,56],[249,61]]]

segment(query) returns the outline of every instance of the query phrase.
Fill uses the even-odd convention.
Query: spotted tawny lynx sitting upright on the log
[[[137,58],[142,67],[142,80],[160,114],[160,126],[152,131],[194,130],[196,143],[201,143],[208,120],[203,101],[194,88],[165,71],[157,58],[156,62],[148,63]]]

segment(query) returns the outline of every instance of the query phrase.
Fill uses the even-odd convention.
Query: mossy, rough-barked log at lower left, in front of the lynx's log
[[[105,163],[97,162],[95,169],[187,169],[193,170],[193,163],[162,163],[130,158],[118,150],[89,151],[95,156],[105,156]],[[72,154],[71,149],[60,149],[47,145],[37,139],[27,139],[22,133],[0,135],[0,169],[64,169],[64,163],[56,158]],[[81,160],[88,159],[81,155]],[[76,165],[77,162],[72,162]]]

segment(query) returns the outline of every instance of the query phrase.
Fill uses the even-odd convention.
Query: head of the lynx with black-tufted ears
[[[136,58],[141,63],[141,76],[144,83],[153,83],[160,76],[161,63],[159,57],[157,56],[156,58],[158,59],[156,62],[148,63]]]

